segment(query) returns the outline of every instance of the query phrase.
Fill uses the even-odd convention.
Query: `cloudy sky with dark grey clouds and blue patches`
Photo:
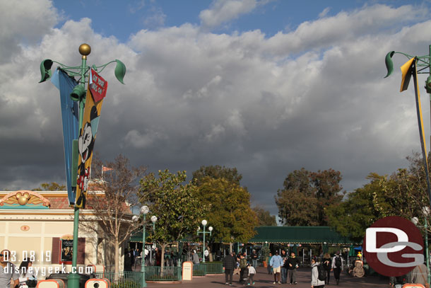
[[[252,205],[300,168],[333,168],[351,192],[420,151],[407,61],[429,52],[430,1],[0,0],[0,190],[66,183],[59,91],[40,62],[114,65],[95,142],[148,171],[237,168]],[[54,67],[55,68],[55,64]],[[424,83],[420,74],[419,83]],[[422,88],[423,85],[420,84]],[[421,90],[425,134],[430,104]],[[428,141],[429,144],[429,141]]]

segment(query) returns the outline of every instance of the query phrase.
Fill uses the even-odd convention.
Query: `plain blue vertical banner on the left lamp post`
[[[78,139],[78,103],[73,101],[70,94],[73,88],[78,85],[75,79],[71,78],[66,72],[57,69],[51,79],[54,86],[60,91],[61,120],[63,122],[63,142],[64,142],[64,164],[66,166],[67,197],[69,205],[73,206],[76,198],[76,173],[72,173],[73,152],[72,142]]]

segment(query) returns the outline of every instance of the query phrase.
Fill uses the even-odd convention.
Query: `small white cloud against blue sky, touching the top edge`
[[[253,11],[256,5],[256,0],[215,0],[210,9],[199,13],[201,25],[205,28],[215,28]]]

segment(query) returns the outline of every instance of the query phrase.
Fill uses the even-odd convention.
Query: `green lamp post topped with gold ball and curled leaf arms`
[[[40,73],[42,74],[42,78],[40,79],[39,83],[45,82],[51,78],[52,76],[51,67],[52,67],[52,64],[54,63],[59,64],[59,69],[64,71],[71,78],[73,79],[75,77],[78,78],[77,85],[71,91],[70,98],[74,102],[77,102],[79,105],[78,128],[81,129],[83,124],[83,114],[84,114],[85,98],[86,98],[85,83],[88,83],[88,81],[90,80],[88,79],[90,75],[90,72],[89,72],[90,67],[87,66],[87,57],[91,52],[91,47],[90,45],[84,43],[79,46],[78,51],[81,54],[81,66],[67,66],[65,64],[61,64],[60,62],[54,61],[52,59],[43,60],[42,63],[40,64]],[[105,67],[107,67],[107,65],[113,62],[117,63],[114,74],[117,77],[118,81],[124,84],[123,79],[124,79],[124,75],[126,74],[126,66],[118,59],[108,62],[107,64],[103,64],[101,66],[93,65],[93,67],[91,68],[93,68],[95,71],[100,73],[101,71],[103,71],[103,69],[105,69]],[[63,107],[61,109],[63,110]],[[70,112],[69,110],[67,112]],[[70,153],[66,151],[66,150],[69,150],[69,149],[66,149],[66,147],[77,146],[78,135],[69,134],[68,136],[66,136],[66,129],[70,129],[68,125],[71,125],[71,124],[63,122],[65,158],[70,157],[72,159],[70,163],[70,167],[66,167],[66,169],[70,168],[70,171],[71,171],[70,174],[67,175],[67,177],[70,177],[71,179],[71,185],[70,186],[68,185],[68,196],[69,196],[70,205],[75,207],[74,219],[73,219],[72,270],[68,277],[68,287],[78,288],[80,276],[76,272],[77,271],[76,265],[77,265],[77,256],[78,256],[77,251],[78,251],[79,208],[76,207],[75,202],[71,202],[71,199],[73,199],[73,196],[75,194],[73,188],[76,188],[76,180],[77,180],[76,171],[78,170],[78,151],[77,149],[72,149],[72,148],[70,149]]]

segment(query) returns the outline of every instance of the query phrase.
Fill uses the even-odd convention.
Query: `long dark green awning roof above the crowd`
[[[260,226],[249,243],[352,244],[329,226]]]

